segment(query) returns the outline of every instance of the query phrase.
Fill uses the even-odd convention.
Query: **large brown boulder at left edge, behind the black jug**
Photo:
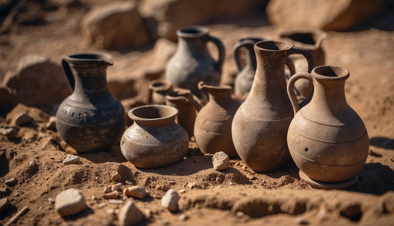
[[[15,89],[16,97],[28,106],[59,103],[70,95],[60,65],[41,55],[23,57],[16,71],[7,72],[3,83]]]

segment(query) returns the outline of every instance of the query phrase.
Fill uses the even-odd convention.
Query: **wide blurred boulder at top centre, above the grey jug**
[[[177,40],[179,27],[258,11],[268,0],[141,0],[139,12],[160,37]],[[156,22],[154,24],[153,21]]]

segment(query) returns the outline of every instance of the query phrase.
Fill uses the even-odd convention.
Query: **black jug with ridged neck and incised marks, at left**
[[[63,56],[72,94],[56,112],[56,129],[78,152],[109,149],[125,131],[125,110],[106,82],[106,68],[112,64],[105,54]]]

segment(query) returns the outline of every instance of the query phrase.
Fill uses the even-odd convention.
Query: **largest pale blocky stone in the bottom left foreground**
[[[74,215],[85,208],[85,198],[77,189],[70,188],[56,196],[55,209],[62,217]]]

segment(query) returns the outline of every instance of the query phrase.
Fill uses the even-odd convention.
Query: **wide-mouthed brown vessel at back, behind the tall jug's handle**
[[[282,32],[279,38],[295,46],[301,46],[308,49],[313,56],[316,67],[325,64],[325,54],[322,48],[322,42],[327,38],[327,33],[324,31],[319,29],[290,30]],[[294,62],[296,73],[308,70],[308,62],[301,55],[293,55],[290,58]],[[290,75],[286,73],[286,77],[290,78]],[[312,90],[312,83],[306,79],[301,79],[296,82],[295,87],[299,95],[306,97]]]

